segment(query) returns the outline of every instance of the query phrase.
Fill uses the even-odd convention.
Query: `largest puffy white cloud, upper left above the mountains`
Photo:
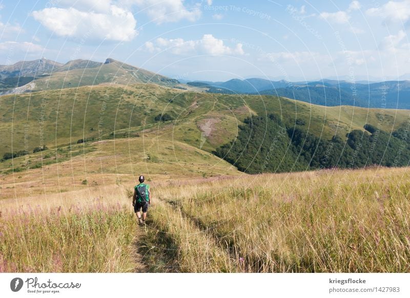
[[[133,14],[115,5],[106,13],[52,7],[33,11],[33,16],[56,35],[73,39],[129,41],[138,34]]]

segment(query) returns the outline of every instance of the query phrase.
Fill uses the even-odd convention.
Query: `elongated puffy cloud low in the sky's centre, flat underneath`
[[[212,34],[204,34],[199,40],[183,40],[182,38],[157,38],[155,42],[145,43],[145,49],[154,52],[167,50],[176,55],[183,54],[210,54],[210,55],[243,55],[242,44],[234,47],[226,46],[222,39]]]

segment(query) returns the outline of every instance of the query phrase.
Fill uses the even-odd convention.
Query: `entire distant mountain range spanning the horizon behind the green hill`
[[[353,83],[333,79],[291,82],[249,78],[225,82],[192,81],[181,85],[176,79],[112,58],[105,62],[77,59],[65,64],[41,58],[0,66],[0,95],[101,83],[154,83],[182,89],[196,87],[196,91],[208,93],[275,95],[328,107],[353,105],[364,108],[410,109],[410,81],[407,80]]]

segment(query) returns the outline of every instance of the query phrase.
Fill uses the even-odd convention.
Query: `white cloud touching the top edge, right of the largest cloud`
[[[183,0],[134,0],[134,3],[157,24],[182,19],[194,22],[201,16],[200,3],[189,8],[183,4]]]

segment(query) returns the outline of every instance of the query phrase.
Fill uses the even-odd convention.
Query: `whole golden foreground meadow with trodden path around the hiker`
[[[408,272],[408,168],[132,179],[0,200],[2,272]]]

